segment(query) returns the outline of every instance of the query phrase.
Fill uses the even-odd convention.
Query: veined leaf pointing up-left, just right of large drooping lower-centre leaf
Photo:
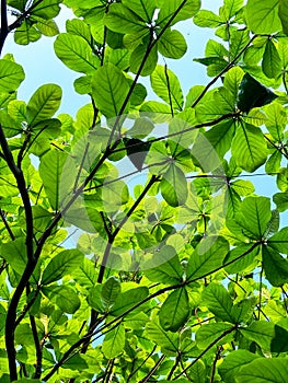
[[[226,288],[218,283],[209,283],[203,292],[203,303],[223,322],[234,322],[231,313],[233,302]]]

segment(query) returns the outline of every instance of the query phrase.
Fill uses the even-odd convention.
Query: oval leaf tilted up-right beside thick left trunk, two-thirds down
[[[66,249],[57,254],[42,276],[42,285],[49,285],[61,279],[64,276],[71,274],[81,265],[83,254],[79,249]]]

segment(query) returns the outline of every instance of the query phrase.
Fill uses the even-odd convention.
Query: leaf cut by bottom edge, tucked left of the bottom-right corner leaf
[[[252,353],[247,350],[235,350],[229,353],[223,362],[219,365],[218,372],[223,382],[235,382],[235,376],[239,374],[242,367],[251,363],[253,360],[260,358],[260,356]]]

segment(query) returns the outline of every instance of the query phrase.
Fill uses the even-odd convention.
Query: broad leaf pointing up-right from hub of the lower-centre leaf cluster
[[[220,267],[229,251],[228,242],[221,237],[208,236],[191,255],[187,265],[187,280],[196,280]]]

